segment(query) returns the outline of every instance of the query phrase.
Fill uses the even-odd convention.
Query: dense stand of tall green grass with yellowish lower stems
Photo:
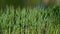
[[[60,8],[55,8],[1,9],[0,34],[60,34]]]

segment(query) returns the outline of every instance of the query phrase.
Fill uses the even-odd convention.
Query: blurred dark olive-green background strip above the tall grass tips
[[[53,5],[60,5],[60,0],[0,0],[0,8],[8,6],[14,6],[17,8],[23,7],[48,7]]]

